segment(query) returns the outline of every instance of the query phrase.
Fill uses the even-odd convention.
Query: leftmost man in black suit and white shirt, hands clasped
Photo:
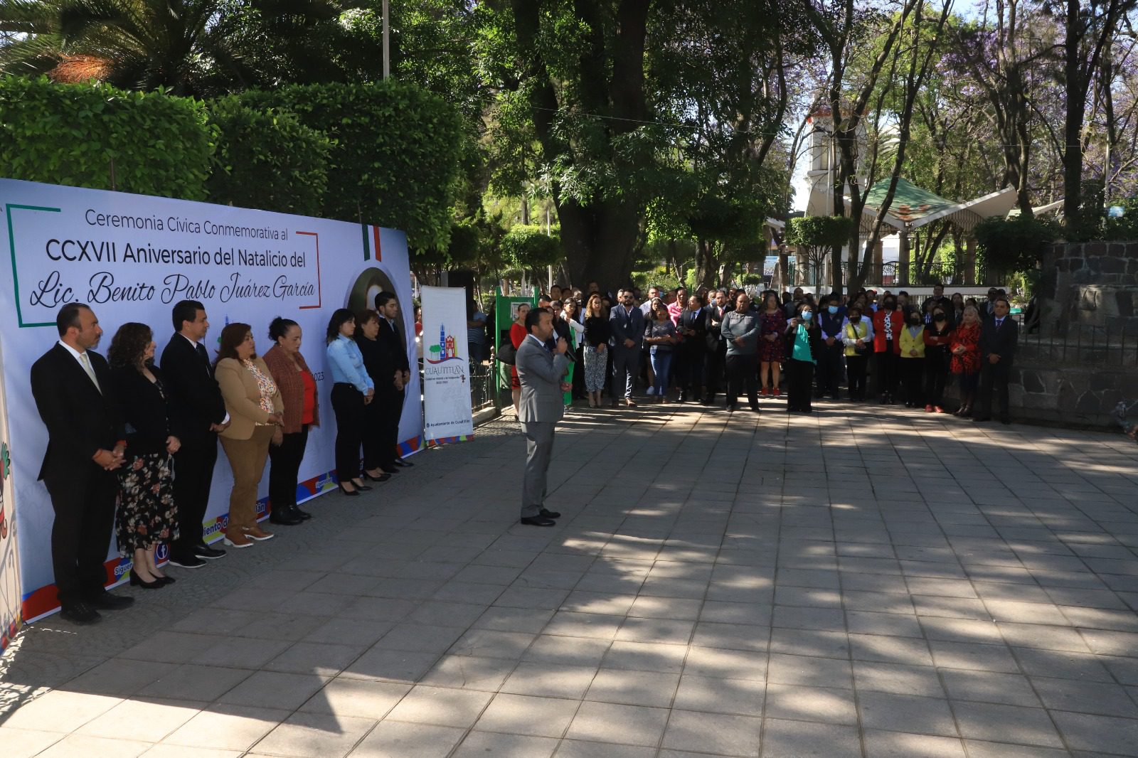
[[[65,305],[56,328],[59,341],[32,364],[32,395],[48,427],[40,479],[56,513],[51,567],[60,616],[93,624],[100,618],[97,609],[134,602],[105,590],[118,494],[115,470],[123,464],[125,432],[107,361],[93,351],[102,336],[94,312],[81,303]]]

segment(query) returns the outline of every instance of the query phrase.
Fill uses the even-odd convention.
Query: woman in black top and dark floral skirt
[[[145,323],[124,323],[107,352],[112,386],[126,425],[126,460],[118,469],[122,491],[115,534],[118,552],[133,559],[131,584],[147,590],[174,582],[158,570],[154,551],[159,542],[176,537],[172,455],[181,445],[171,429],[162,372],[154,365],[152,337]]]

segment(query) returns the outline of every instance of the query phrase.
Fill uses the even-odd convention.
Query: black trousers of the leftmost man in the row
[[[56,512],[51,525],[51,568],[59,604],[97,598],[107,584],[104,562],[115,526],[118,475],[94,463],[66,473],[44,476]],[[198,537],[201,521],[198,520]]]

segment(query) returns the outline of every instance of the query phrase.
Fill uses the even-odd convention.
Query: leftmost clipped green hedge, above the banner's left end
[[[204,105],[107,84],[0,79],[0,176],[206,198],[214,129]]]

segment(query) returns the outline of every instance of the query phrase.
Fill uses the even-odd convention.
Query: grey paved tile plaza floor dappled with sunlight
[[[1138,446],[776,409],[577,411],[552,529],[496,421],[36,624],[0,755],[1138,756]]]

